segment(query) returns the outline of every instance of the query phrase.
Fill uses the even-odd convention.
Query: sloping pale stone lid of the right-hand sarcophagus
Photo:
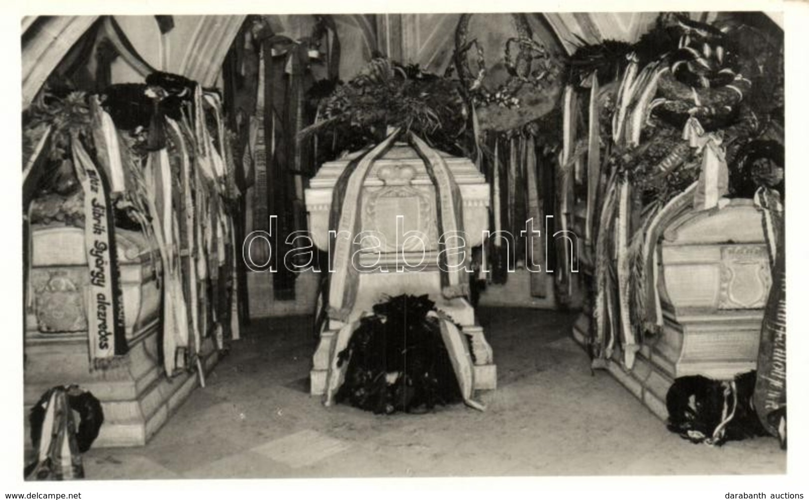
[[[752,200],[736,198],[718,210],[689,211],[663,232],[663,246],[761,244],[765,241],[761,212]]]

